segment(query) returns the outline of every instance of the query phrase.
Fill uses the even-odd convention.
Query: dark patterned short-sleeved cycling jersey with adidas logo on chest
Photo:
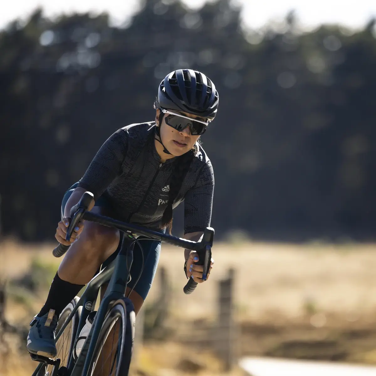
[[[131,124],[112,134],[97,152],[79,187],[102,194],[119,219],[160,228],[174,158],[161,163],[155,149],[155,123]],[[173,203],[184,200],[184,232],[203,231],[210,225],[214,174],[208,156],[198,151]]]

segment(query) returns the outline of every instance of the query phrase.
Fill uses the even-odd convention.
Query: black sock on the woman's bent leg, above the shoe
[[[45,315],[50,309],[55,309],[55,315],[61,314],[63,309],[71,302],[71,300],[79,293],[85,285],[74,285],[70,282],[63,281],[56,272],[47,300],[42,307],[38,316]]]

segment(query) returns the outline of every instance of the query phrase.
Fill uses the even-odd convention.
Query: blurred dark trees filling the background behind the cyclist
[[[161,80],[189,67],[220,95],[202,137],[217,238],[243,229],[270,240],[374,239],[374,21],[301,33],[291,12],[279,31],[259,33],[229,0],[199,11],[147,0],[122,27],[108,21],[37,9],[0,32],[3,235],[52,240],[65,190],[102,143],[152,121]]]

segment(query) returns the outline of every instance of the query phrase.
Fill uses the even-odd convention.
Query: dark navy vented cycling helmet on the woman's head
[[[161,108],[183,111],[212,121],[217,114],[218,92],[205,74],[178,69],[168,74],[158,89]]]

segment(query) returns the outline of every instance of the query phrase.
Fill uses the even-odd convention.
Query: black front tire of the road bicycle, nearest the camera
[[[94,355],[92,356],[92,359],[89,363],[88,375],[95,376],[96,374],[98,374],[98,367],[100,367],[101,375],[107,375],[107,373],[103,373],[103,368],[106,368],[105,372],[107,372],[108,365],[108,375],[128,376],[133,351],[135,317],[136,316],[133,304],[128,298],[124,297],[123,299],[117,300],[113,304],[111,310],[106,315],[100,329],[98,341],[94,350]],[[108,355],[103,355],[103,353],[106,351],[105,343],[107,344],[107,340],[111,342],[112,338],[112,345],[114,344],[115,331],[111,329],[115,325],[117,325],[119,329],[118,340],[120,343],[117,344],[117,350],[114,354],[117,358],[114,357],[113,359],[112,354],[114,353],[114,351],[112,350],[114,350],[115,347],[112,347],[112,350],[110,352],[111,357],[108,361]],[[104,358],[104,356],[106,356],[106,358]],[[116,364],[115,359],[117,359]],[[105,363],[104,365],[103,361]]]

